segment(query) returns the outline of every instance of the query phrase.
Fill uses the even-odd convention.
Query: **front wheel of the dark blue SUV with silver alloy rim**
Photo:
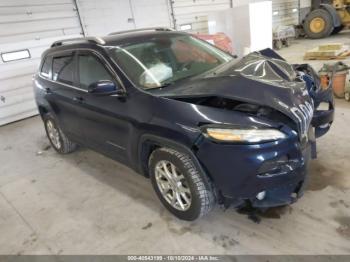
[[[165,176],[161,175],[167,173],[163,172],[165,171],[164,164],[167,166],[168,171],[172,170],[171,164],[175,166],[175,173],[178,175],[178,180],[175,180],[177,182],[175,182],[175,187],[173,184],[172,188],[179,188],[176,184],[180,181],[181,186],[180,189],[177,190],[183,192],[180,192],[179,195],[170,189],[171,186],[164,187],[168,189],[163,190],[163,193],[161,192],[162,186],[159,184],[159,181],[168,185],[171,184],[171,180],[168,177],[164,179]],[[160,173],[158,170],[162,172]],[[160,201],[177,218],[193,221],[209,213],[215,206],[216,200],[212,183],[209,178],[196,167],[188,155],[169,148],[156,149],[149,158],[149,173],[152,186]],[[180,178],[181,176],[183,178]],[[184,191],[187,192],[184,193]],[[168,192],[168,194],[166,194],[167,198],[164,196],[164,192]],[[185,198],[183,197],[184,194]],[[176,203],[174,204],[171,204],[169,200],[171,195],[173,198],[176,198]],[[176,197],[174,195],[176,195]],[[190,204],[184,204],[184,207],[181,207],[179,203],[186,203],[185,199],[190,199],[190,201],[187,201],[187,203],[190,202]]]

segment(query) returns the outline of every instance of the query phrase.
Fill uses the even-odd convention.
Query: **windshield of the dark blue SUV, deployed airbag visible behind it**
[[[190,35],[155,36],[110,47],[112,59],[143,89],[159,88],[209,71],[233,57]]]

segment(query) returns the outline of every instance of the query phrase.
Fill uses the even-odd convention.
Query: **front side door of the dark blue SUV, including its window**
[[[115,73],[106,66],[106,61],[92,51],[80,51],[77,54],[78,83],[81,89],[81,117],[84,122],[84,134],[88,146],[125,162],[126,143],[129,136],[129,122],[123,117],[125,103],[123,99],[111,95],[96,95],[88,92],[88,87],[101,80],[120,82]]]

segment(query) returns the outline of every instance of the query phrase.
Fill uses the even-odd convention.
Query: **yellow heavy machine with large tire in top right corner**
[[[303,21],[310,38],[324,38],[350,26],[350,0],[312,0],[311,12]]]

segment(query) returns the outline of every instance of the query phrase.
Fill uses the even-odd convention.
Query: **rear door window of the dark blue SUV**
[[[52,59],[53,80],[73,85],[75,73],[75,60],[73,55],[54,57]]]

